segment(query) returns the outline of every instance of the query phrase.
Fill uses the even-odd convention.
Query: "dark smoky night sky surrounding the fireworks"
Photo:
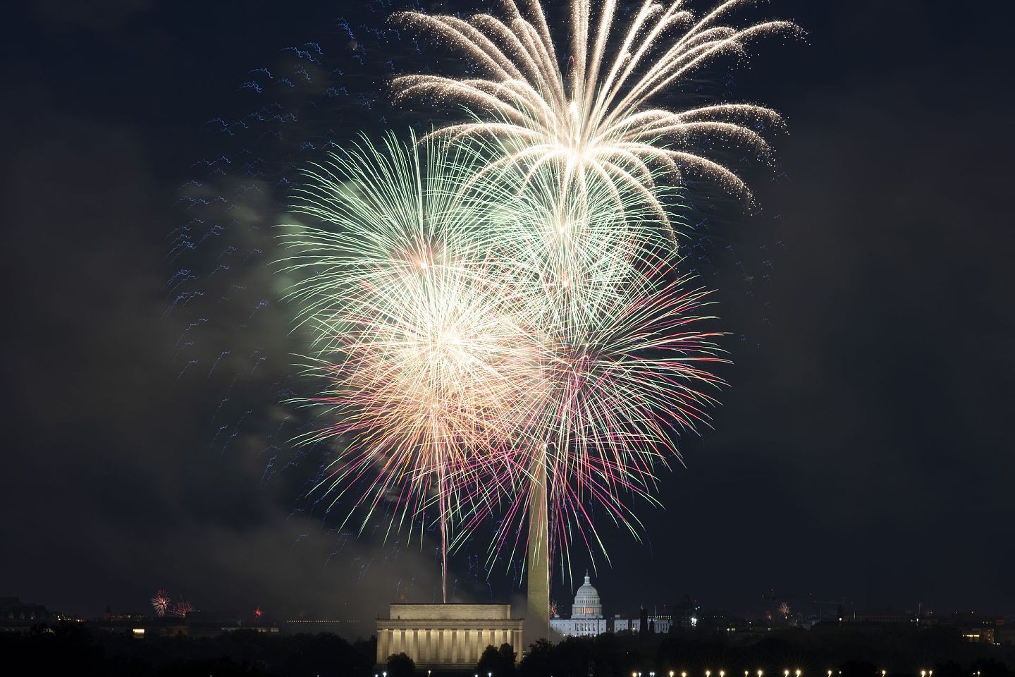
[[[43,0],[5,16],[0,595],[93,615],[165,588],[346,618],[433,599],[431,541],[351,537],[306,495],[323,459],[288,442],[298,348],[268,265],[280,178],[328,139],[431,122],[384,83],[450,57],[371,33],[389,11]],[[756,611],[774,593],[805,611],[1015,613],[1006,11],[743,14],[808,37],[760,43],[700,90],[771,105],[790,132],[774,168],[745,170],[757,212],[700,198],[691,265],[719,289],[732,387],[664,475],[666,510],[641,511],[644,542],[606,529],[608,612],[685,593]],[[308,43],[314,61],[286,49]],[[456,558],[457,594],[510,599],[483,559],[478,542]]]

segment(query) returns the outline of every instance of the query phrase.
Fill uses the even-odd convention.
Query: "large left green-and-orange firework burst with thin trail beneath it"
[[[335,422],[306,439],[348,442],[322,486],[335,500],[364,487],[360,529],[394,499],[389,533],[435,500],[446,580],[452,522],[481,497],[473,487],[487,461],[476,451],[512,438],[542,382],[523,315],[533,306],[513,292],[527,289],[471,236],[483,215],[458,190],[468,156],[426,149],[421,162],[414,140],[389,137],[383,150],[364,143],[309,173],[296,210],[329,229],[283,234],[296,250],[283,272],[306,275],[291,296],[316,337],[308,366],[331,384],[307,402]]]

